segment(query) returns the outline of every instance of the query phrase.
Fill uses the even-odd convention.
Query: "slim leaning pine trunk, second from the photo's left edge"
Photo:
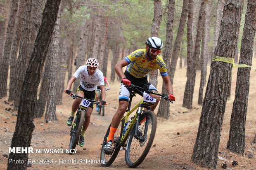
[[[17,54],[19,49],[19,44],[21,40],[21,29],[23,23],[23,14],[24,14],[24,5],[25,0],[19,0],[19,10],[17,14],[17,23],[16,23],[16,31],[14,35],[14,40],[12,43],[12,53],[10,56],[10,82],[9,82],[9,97],[8,101],[13,101],[15,99],[16,93],[16,76],[15,73],[17,72]]]

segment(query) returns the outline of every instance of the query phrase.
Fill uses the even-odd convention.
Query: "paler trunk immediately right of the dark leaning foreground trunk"
[[[59,8],[61,5],[59,5]],[[60,10],[58,12],[58,17],[55,23],[55,27],[52,33],[52,39],[50,42],[50,47],[47,52],[47,60],[49,67],[48,76],[48,95],[47,95],[47,105],[45,112],[45,121],[57,120],[56,116],[56,80],[57,80],[57,65],[58,65],[58,51],[59,51],[59,23],[60,23]],[[71,64],[72,65],[72,64]]]

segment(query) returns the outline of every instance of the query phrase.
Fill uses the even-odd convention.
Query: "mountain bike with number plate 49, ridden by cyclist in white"
[[[66,92],[66,91],[65,91]],[[85,115],[88,106],[90,105],[91,102],[95,103],[96,105],[101,105],[100,101],[95,101],[95,100],[90,100],[87,98],[80,97],[76,94],[71,93],[69,95],[73,99],[79,98],[81,99],[81,105],[78,107],[78,110],[76,112],[76,117],[73,125],[71,126],[70,130],[70,142],[69,142],[69,150],[70,149],[75,149],[76,145],[78,144],[79,141],[79,136],[81,134],[81,130],[83,128],[83,122],[85,121]],[[69,154],[73,154],[69,152]]]

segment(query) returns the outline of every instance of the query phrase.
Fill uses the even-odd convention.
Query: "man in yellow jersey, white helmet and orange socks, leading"
[[[146,49],[138,49],[133,51],[131,54],[126,56],[123,60],[115,65],[116,74],[122,79],[120,92],[119,92],[119,106],[114,114],[107,144],[104,146],[105,153],[111,153],[112,140],[117,127],[119,126],[120,120],[123,114],[126,112],[128,107],[128,101],[130,97],[129,86],[131,83],[136,86],[143,87],[144,84],[149,85],[149,90],[157,92],[156,88],[147,81],[147,75],[152,70],[160,70],[166,91],[169,93],[168,98],[175,101],[173,93],[173,87],[168,77],[166,64],[163,59],[158,55],[163,48],[163,42],[158,37],[149,37],[146,41]],[[123,72],[122,68],[126,67],[126,71]],[[157,95],[150,94],[153,98],[158,97]],[[151,107],[152,111],[156,108],[159,101]],[[138,126],[138,133],[141,133],[140,125]]]

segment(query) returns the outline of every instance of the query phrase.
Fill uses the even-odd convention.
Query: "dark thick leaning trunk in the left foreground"
[[[33,113],[40,82],[40,72],[43,68],[45,56],[52,37],[53,25],[61,0],[47,0],[43,12],[43,21],[35,41],[35,48],[31,55],[24,83],[22,85],[21,103],[19,105],[17,123],[12,137],[11,147],[29,147],[35,124]],[[29,94],[29,95],[28,95]],[[9,159],[21,160],[25,163],[8,162],[7,170],[26,170],[28,154],[9,154]]]

